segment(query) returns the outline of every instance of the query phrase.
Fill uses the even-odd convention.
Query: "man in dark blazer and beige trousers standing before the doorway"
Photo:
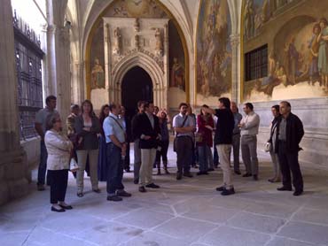
[[[139,116],[139,133],[141,150],[141,167],[139,173],[139,191],[146,192],[146,188],[160,188],[152,181],[152,164],[156,158],[156,150],[160,142],[160,123],[153,114],[152,102],[144,104],[144,113]]]

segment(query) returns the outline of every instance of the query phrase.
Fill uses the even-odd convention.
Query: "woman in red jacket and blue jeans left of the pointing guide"
[[[199,173],[197,173],[197,175],[207,175],[211,158],[213,163],[211,147],[213,146],[212,132],[215,125],[212,115],[203,111],[203,108],[208,108],[208,106],[206,104],[202,105],[200,114],[197,116],[198,131],[195,137],[199,155]]]

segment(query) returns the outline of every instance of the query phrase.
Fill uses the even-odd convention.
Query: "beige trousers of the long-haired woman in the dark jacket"
[[[76,172],[77,192],[83,192],[84,170],[89,154],[90,181],[92,189],[98,188],[98,150],[76,150],[79,170]]]

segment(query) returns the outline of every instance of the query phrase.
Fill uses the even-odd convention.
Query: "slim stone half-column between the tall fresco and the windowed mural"
[[[232,50],[232,64],[231,64],[231,100],[240,103],[240,35],[230,35],[231,50]]]

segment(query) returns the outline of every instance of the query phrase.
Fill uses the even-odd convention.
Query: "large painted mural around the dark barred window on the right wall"
[[[327,19],[328,1],[246,0],[244,52],[268,43],[269,56],[268,76],[244,82],[244,101],[328,96]]]

